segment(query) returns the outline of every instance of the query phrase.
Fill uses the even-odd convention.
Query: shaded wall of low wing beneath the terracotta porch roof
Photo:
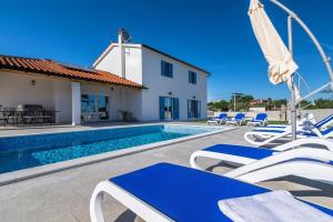
[[[31,85],[34,80],[36,84]],[[103,94],[109,97],[110,120],[121,120],[119,110],[127,110],[141,120],[141,90],[82,81],[81,94]],[[16,108],[18,104],[40,104],[52,108],[58,123],[72,121],[71,81],[48,78],[41,74],[18,74],[0,72],[0,105]]]

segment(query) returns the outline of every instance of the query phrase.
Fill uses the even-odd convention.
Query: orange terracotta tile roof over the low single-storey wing
[[[0,56],[0,69],[104,82],[131,88],[143,88],[141,84],[123,79],[110,72],[67,65],[52,60]]]

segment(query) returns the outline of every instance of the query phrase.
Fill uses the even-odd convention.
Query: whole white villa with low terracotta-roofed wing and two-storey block
[[[41,105],[57,123],[206,118],[209,72],[145,44],[111,43],[92,69],[0,56],[0,109]]]

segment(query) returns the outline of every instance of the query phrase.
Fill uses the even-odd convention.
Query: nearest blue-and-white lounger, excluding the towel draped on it
[[[219,209],[220,200],[270,191],[210,172],[159,163],[100,182],[90,199],[90,218],[92,222],[104,221],[102,200],[103,194],[109,194],[134,212],[135,221],[231,221]],[[333,215],[333,210],[300,201],[325,216]]]

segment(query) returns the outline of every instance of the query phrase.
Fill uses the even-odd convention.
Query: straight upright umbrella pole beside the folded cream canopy
[[[287,17],[287,40],[289,40],[289,51],[293,57],[293,18],[291,16]],[[291,78],[291,102],[290,102],[290,110],[291,110],[291,125],[292,125],[292,139],[296,140],[296,131],[297,131],[297,113],[296,113],[296,95],[295,95],[295,83],[294,78]]]

